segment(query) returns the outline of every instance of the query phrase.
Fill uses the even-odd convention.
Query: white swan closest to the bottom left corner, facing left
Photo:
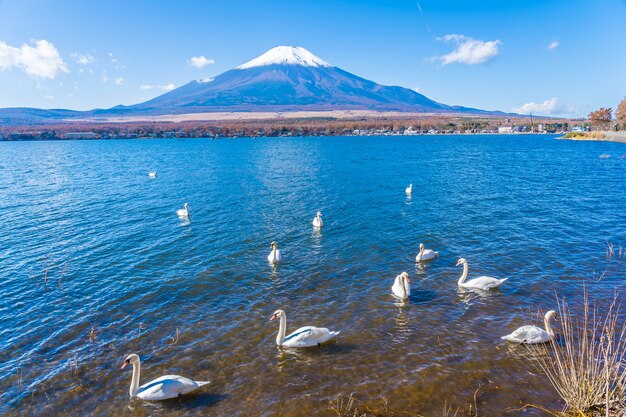
[[[165,375],[154,379],[142,386],[139,386],[139,374],[141,372],[141,362],[139,355],[130,354],[124,361],[122,369],[128,365],[133,365],[133,377],[130,381],[130,396],[148,401],[167,400],[176,398],[179,395],[187,394],[208,384],[210,381],[192,381],[189,378],[179,375]]]

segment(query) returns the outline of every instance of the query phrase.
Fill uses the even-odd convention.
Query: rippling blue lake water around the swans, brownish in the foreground
[[[626,245],[624,154],[550,135],[0,142],[0,414],[326,415],[355,393],[436,416],[477,389],[481,415],[560,408],[500,336],[541,323],[555,291],[623,289],[605,248]],[[416,265],[420,242],[439,258]],[[460,292],[459,257],[509,280]],[[288,332],[341,334],[280,350],[278,308]],[[212,383],[131,401],[132,352],[143,382]]]

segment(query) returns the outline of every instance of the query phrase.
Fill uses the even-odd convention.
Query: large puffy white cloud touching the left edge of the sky
[[[16,48],[0,41],[0,70],[17,67],[33,77],[51,79],[61,72],[70,72],[52,43],[36,40],[34,44]]]

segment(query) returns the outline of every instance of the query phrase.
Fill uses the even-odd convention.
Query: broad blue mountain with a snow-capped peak
[[[206,112],[373,110],[505,115],[449,106],[404,87],[384,86],[335,67],[302,47],[277,46],[212,79],[191,81],[152,100],[90,111],[0,109],[0,123]]]

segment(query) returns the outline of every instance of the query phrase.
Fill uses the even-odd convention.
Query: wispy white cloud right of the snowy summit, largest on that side
[[[444,41],[456,45],[456,48],[446,55],[432,58],[432,61],[440,61],[441,65],[453,63],[477,65],[484,64],[495,58],[500,50],[498,47],[502,44],[499,40],[481,41],[463,35],[445,35],[437,40]]]

